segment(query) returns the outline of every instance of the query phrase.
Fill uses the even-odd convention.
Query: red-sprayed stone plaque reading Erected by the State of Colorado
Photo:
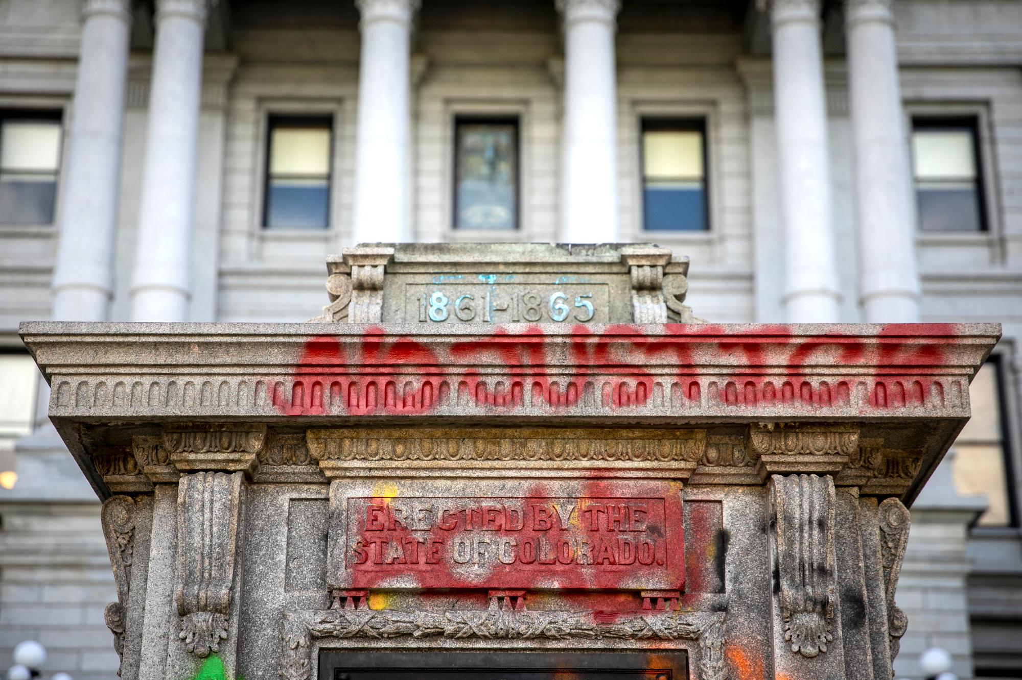
[[[557,495],[346,496],[344,539],[331,555],[335,585],[682,589],[677,485],[600,486]]]

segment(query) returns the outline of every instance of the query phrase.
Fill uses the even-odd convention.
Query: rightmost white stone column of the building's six
[[[918,322],[912,167],[891,0],[846,0],[844,6],[865,321]]]

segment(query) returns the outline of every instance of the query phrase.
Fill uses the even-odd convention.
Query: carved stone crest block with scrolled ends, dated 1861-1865
[[[693,323],[688,269],[652,244],[362,244],[327,257],[330,304],[312,321]]]

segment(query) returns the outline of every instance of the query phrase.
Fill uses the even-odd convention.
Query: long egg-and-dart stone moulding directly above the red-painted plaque
[[[309,430],[309,451],[328,477],[478,471],[670,469],[687,478],[703,456],[705,430],[414,428]]]

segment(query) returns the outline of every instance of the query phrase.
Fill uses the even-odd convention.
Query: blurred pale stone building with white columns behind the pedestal
[[[1022,677],[1020,64],[1019,0],[0,0],[0,668],[118,668],[18,322],[305,321],[359,242],[636,241],[715,322],[1004,323],[895,668]]]

